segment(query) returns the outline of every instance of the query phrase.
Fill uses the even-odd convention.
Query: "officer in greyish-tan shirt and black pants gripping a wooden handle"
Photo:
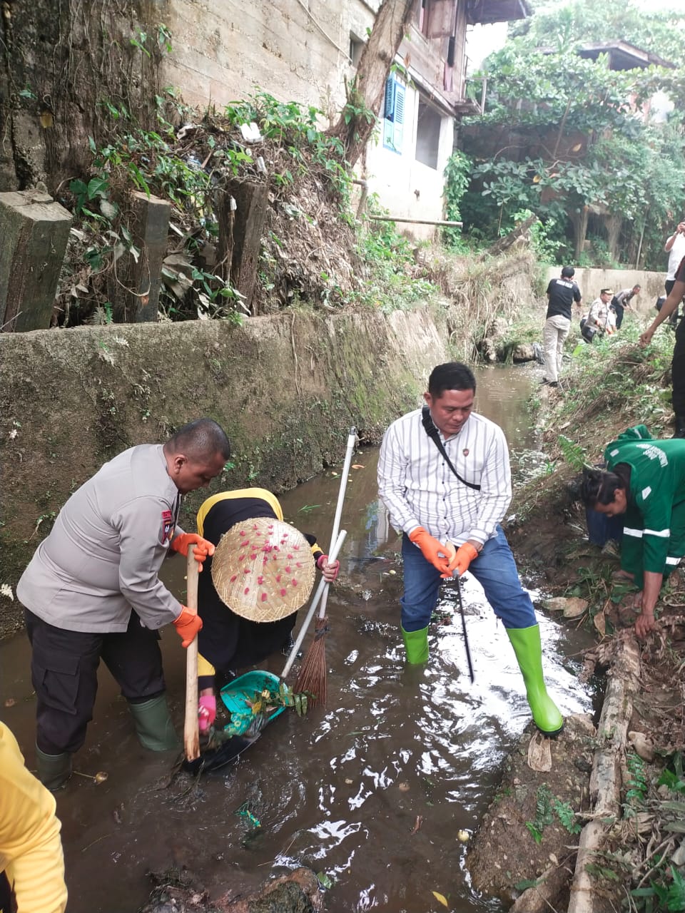
[[[58,789],[83,745],[100,658],[129,702],[141,744],[176,746],[157,630],[173,623],[188,646],[202,621],[157,574],[169,551],[200,563],[214,545],[177,524],[181,497],[218,476],[230,456],[223,429],[203,418],[164,445],[115,456],[60,510],[16,592],[26,609],[37,694],[38,779]]]

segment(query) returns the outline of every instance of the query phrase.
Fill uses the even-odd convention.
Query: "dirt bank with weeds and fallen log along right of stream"
[[[552,743],[547,770],[529,764],[532,731],[504,765],[469,868],[475,887],[515,913],[685,909],[685,575],[670,575],[658,629],[640,641],[637,588],[615,576],[616,542],[588,541],[579,499],[583,462],[600,460],[627,426],[672,435],[668,340],[645,352],[637,333],[628,326],[610,345],[582,347],[565,389],[543,391],[548,471],[512,504],[520,567],[553,593],[554,617],[595,634],[583,677],[595,677],[599,705]]]

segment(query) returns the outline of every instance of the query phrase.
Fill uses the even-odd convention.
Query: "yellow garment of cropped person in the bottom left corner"
[[[67,886],[55,799],[24,766],[16,739],[0,723],[0,871],[18,913],[64,913]]]

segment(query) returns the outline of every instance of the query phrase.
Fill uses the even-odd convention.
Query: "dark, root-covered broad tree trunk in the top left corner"
[[[154,7],[150,0],[3,4],[0,191],[43,182],[55,194],[88,173],[89,136],[106,144],[128,114],[156,129],[162,51]],[[141,50],[131,36],[143,35]]]

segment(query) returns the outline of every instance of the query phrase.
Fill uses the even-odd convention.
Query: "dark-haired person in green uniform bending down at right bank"
[[[624,515],[621,575],[640,593],[638,637],[656,627],[661,583],[685,555],[685,442],[655,440],[645,425],[627,428],[604,452],[606,471],[585,469],[585,506]]]

